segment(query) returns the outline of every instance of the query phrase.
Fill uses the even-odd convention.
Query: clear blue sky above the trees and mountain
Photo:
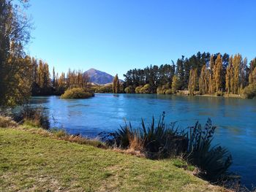
[[[29,54],[56,67],[128,69],[197,51],[256,56],[255,0],[31,0]]]

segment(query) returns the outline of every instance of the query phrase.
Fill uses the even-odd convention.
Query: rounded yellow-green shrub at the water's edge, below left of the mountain
[[[94,96],[94,93],[86,91],[84,88],[70,88],[61,95],[61,99],[88,99]]]

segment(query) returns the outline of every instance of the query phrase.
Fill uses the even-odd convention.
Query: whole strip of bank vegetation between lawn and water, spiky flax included
[[[241,188],[237,183],[239,177],[228,172],[232,157],[227,149],[220,145],[212,146],[215,126],[208,119],[205,126],[196,123],[188,130],[180,130],[176,123],[165,123],[165,113],[158,122],[152,119],[149,126],[142,120],[140,128],[132,128],[131,123],[117,131],[99,134],[99,139],[88,139],[80,135],[70,135],[59,128],[44,129],[48,121],[38,109],[24,107],[21,115],[14,115],[23,126],[18,125],[12,118],[1,116],[1,128],[16,128],[29,131],[51,139],[76,142],[81,145],[92,145],[103,149],[112,149],[121,153],[129,153],[152,160],[167,159],[179,168],[192,171],[197,177],[207,180],[214,185],[227,188]],[[31,114],[36,115],[31,115]],[[18,118],[17,118],[18,116]],[[48,124],[49,125],[49,124]],[[156,161],[159,162],[159,161]],[[243,188],[244,190],[244,188]]]

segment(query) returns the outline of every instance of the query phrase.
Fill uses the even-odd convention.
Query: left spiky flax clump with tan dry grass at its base
[[[106,139],[107,138],[107,139]],[[126,123],[115,133],[107,134],[103,139],[108,145],[115,145],[123,149],[138,150],[147,158],[167,158],[186,152],[188,140],[184,134],[175,129],[175,123],[165,124],[165,112],[155,122],[154,117],[149,126],[141,120],[140,128],[132,128]]]

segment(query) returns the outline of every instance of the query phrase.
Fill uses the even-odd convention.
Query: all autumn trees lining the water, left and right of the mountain
[[[27,1],[1,0],[0,3],[0,107],[15,106],[29,96],[60,95],[67,88],[86,88],[89,77],[81,70],[50,76],[49,66],[26,55],[31,21],[26,15]],[[116,75],[112,88],[97,88],[113,93],[241,94],[256,96],[256,58],[249,61],[240,54],[200,53],[181,56],[176,63],[131,69],[120,83]]]

